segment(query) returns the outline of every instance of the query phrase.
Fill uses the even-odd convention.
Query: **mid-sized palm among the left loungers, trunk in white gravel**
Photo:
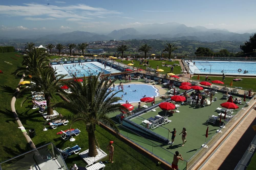
[[[60,88],[60,84],[62,84],[61,80],[67,76],[67,75],[56,75],[56,70],[47,67],[47,68],[39,68],[37,72],[34,72],[34,76],[32,77],[33,81],[36,83],[29,84],[28,88],[23,88],[19,91],[17,97],[20,97],[21,95],[28,94],[28,98],[31,96],[31,91],[40,91],[43,92],[45,95],[46,100],[46,106],[47,106],[47,115],[53,114],[53,110],[50,107],[51,104],[51,98],[54,96],[54,94],[57,93],[58,90],[62,90]],[[24,98],[24,100],[21,103],[22,104],[28,99]]]

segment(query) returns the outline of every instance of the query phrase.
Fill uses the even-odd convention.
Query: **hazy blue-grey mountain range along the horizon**
[[[157,39],[157,40],[195,40],[202,42],[246,41],[252,33],[238,34],[225,29],[207,29],[202,26],[187,27],[176,22],[147,24],[134,28],[114,30],[109,34],[97,34],[86,31],[53,33],[42,36],[26,36],[12,39],[0,37],[0,42],[35,42],[35,43],[81,43],[106,40]]]

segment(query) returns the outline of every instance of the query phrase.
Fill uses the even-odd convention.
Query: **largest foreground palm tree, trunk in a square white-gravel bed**
[[[98,81],[98,76],[90,76],[84,79],[83,85],[80,82],[71,81],[67,86],[71,89],[72,94],[60,93],[67,101],[61,101],[51,105],[51,107],[62,107],[69,110],[72,115],[65,116],[65,119],[75,121],[82,121],[86,125],[89,141],[89,156],[96,156],[98,154],[96,146],[99,147],[97,138],[95,136],[95,125],[104,124],[119,133],[115,123],[108,117],[109,113],[116,111],[128,111],[116,103],[122,100],[121,97],[114,97],[120,91],[109,92],[109,87],[112,86],[113,81],[108,83],[105,79]],[[84,77],[85,78],[85,77]]]

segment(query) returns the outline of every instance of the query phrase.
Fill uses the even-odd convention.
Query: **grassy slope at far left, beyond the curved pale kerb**
[[[23,60],[22,57],[17,57],[15,54],[20,56],[18,53],[0,53],[0,70],[3,71],[3,74],[0,74],[0,128],[2,129],[0,162],[30,150],[24,135],[18,128],[10,106],[13,93],[20,80],[11,73],[17,66],[21,66]],[[6,64],[3,61],[8,61],[13,65]]]

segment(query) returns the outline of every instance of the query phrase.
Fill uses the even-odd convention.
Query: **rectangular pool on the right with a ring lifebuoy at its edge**
[[[193,62],[196,63],[193,66]],[[229,73],[232,75],[239,74],[250,74],[256,75],[256,62],[250,61],[193,61],[189,62],[189,70],[191,73],[213,73],[213,74],[222,74]],[[242,71],[239,73],[238,69]],[[248,71],[244,73],[244,71]]]

